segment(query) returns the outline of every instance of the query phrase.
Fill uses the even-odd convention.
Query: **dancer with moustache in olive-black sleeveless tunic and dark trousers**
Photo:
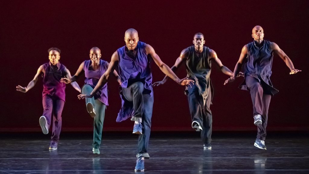
[[[201,140],[205,149],[211,149],[212,114],[210,104],[212,101],[212,85],[210,81],[211,61],[218,64],[221,72],[232,76],[233,72],[223,66],[214,50],[204,46],[205,39],[202,33],[193,36],[193,46],[181,51],[171,69],[175,72],[185,62],[187,77],[194,80],[195,84],[186,87],[185,94],[188,96],[189,109],[192,119],[192,128],[201,131]],[[240,73],[239,76],[242,76]],[[168,77],[155,82],[153,86],[163,85]]]

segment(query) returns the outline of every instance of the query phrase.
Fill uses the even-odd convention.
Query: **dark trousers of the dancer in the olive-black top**
[[[206,104],[204,106],[203,97],[196,85],[188,88],[188,102],[191,113],[192,122],[201,123],[203,130],[201,131],[201,139],[204,143],[211,142],[212,133],[212,115],[210,111],[211,91],[209,89]]]

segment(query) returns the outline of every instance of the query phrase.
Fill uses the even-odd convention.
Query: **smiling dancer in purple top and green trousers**
[[[81,75],[85,74],[85,85],[82,87],[82,94],[89,94],[97,85],[100,77],[108,68],[108,62],[100,59],[101,50],[98,47],[93,47],[90,50],[90,60],[85,60],[80,64],[75,75],[68,78],[61,78],[61,82],[66,84],[75,82]],[[118,77],[116,71],[114,75]],[[120,83],[120,78],[118,79]],[[120,83],[121,84],[121,83]],[[93,121],[93,141],[92,141],[92,153],[100,154],[100,145],[102,138],[103,122],[105,117],[105,108],[108,106],[108,90],[107,83],[103,85],[97,93],[91,98],[86,98],[86,108]]]

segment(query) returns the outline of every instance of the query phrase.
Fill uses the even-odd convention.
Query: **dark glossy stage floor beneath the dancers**
[[[138,135],[104,132],[99,155],[92,154],[91,136],[63,133],[58,150],[49,151],[49,136],[1,133],[0,174],[309,173],[306,134],[273,133],[260,150],[253,133],[213,133],[212,150],[204,150],[195,132],[156,132],[144,172],[134,172]]]

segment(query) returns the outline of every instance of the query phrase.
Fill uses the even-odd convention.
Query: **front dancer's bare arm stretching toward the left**
[[[101,76],[100,80],[98,81],[98,84],[95,86],[95,88],[92,90],[90,94],[79,94],[78,98],[91,98],[94,96],[95,93],[98,92],[99,89],[101,89],[106,83],[107,80],[112,72],[114,72],[116,66],[118,65],[119,58],[117,51],[114,52],[112,55],[111,62],[108,65],[107,70],[104,72],[104,74]]]

